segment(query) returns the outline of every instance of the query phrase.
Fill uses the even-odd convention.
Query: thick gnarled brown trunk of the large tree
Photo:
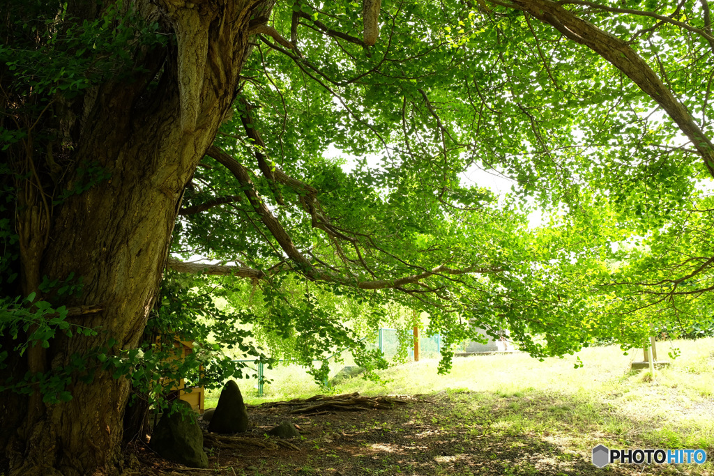
[[[135,2],[142,14],[171,25],[176,44],[144,59],[154,70],[145,77],[94,88],[75,108],[71,174],[79,180],[76,168],[86,161],[111,177],[70,197],[54,213],[27,182],[18,218],[23,293],[36,291],[45,275],[81,276],[81,296],[61,304],[101,305],[100,313],[73,318],[101,331],[93,338],[58,338],[49,349],[31,349],[26,358],[14,356],[14,375],[67,365],[71,355],[86,355],[110,338],[117,342],[114,352],[136,346],[159,289],[183,188],[236,94],[250,51],[248,21],[251,15],[267,16],[271,5]],[[146,86],[157,73],[159,87],[149,93]],[[21,399],[0,394],[5,426],[0,453],[11,474],[84,475],[111,472],[116,465],[129,381],[98,372],[91,384],[73,378],[70,390],[71,401],[54,405],[34,395],[26,411]]]

